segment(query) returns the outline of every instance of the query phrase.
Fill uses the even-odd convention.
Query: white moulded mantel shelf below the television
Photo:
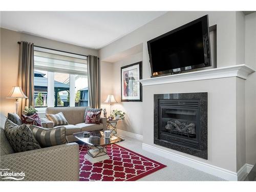
[[[202,71],[181,73],[175,75],[154,77],[148,79],[140,79],[138,81],[142,83],[142,86],[152,86],[154,84],[217,79],[225,77],[240,77],[242,79],[247,79],[247,76],[253,72],[253,69],[249,68],[245,64],[242,64],[222,68],[207,69]]]

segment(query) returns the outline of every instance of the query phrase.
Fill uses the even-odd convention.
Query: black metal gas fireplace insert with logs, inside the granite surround
[[[160,99],[159,138],[198,149],[200,144],[199,103],[199,99]]]

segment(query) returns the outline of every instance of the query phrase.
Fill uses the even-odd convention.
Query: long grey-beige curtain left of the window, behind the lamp
[[[20,41],[18,85],[28,97],[20,102],[20,115],[25,106],[34,106],[34,44],[31,42]]]

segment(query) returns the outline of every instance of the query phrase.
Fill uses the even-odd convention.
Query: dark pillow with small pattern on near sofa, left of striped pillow
[[[6,119],[5,134],[15,152],[26,152],[41,148],[26,124],[17,125]]]

